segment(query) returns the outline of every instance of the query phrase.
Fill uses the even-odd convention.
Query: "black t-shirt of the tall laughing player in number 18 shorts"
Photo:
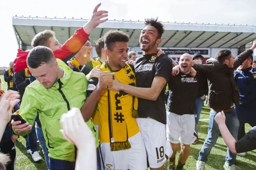
[[[156,54],[148,54],[137,59],[134,68],[137,87],[150,88],[155,76],[164,77],[166,78],[166,82],[169,81],[172,71],[172,61],[166,54],[162,54],[159,57]],[[165,88],[166,86],[164,86],[156,101],[138,98],[139,117],[150,117],[166,124],[166,110],[164,105]]]

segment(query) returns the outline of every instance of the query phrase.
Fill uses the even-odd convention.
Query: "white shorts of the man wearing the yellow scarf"
[[[111,151],[110,143],[100,143],[104,170],[146,170],[146,150],[140,132],[128,139],[132,148]]]

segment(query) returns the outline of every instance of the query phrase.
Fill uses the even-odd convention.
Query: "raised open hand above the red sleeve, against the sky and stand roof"
[[[108,20],[108,18],[106,18],[108,16],[108,11],[104,11],[104,10],[100,10],[98,11],[98,8],[100,7],[101,3],[98,4],[93,12],[92,12],[92,17],[90,18],[90,20],[83,26],[84,31],[87,34],[90,34],[91,31],[97,27],[100,23],[103,23],[105,21]],[[103,19],[106,18],[106,19]],[[102,19],[102,20],[101,20]]]

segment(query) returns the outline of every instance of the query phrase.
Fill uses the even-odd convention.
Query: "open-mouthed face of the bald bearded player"
[[[180,71],[183,72],[184,74],[189,74],[191,67],[194,65],[192,61],[192,56],[190,54],[183,54],[180,57],[179,61],[179,66],[180,66]]]

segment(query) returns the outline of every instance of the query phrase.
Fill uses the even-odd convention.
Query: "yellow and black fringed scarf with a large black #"
[[[100,69],[113,72],[107,61]],[[135,74],[129,64],[115,72],[115,76],[123,84],[136,86]],[[123,91],[108,90],[107,99],[110,149],[111,151],[130,149],[126,120],[138,117],[138,98]]]

